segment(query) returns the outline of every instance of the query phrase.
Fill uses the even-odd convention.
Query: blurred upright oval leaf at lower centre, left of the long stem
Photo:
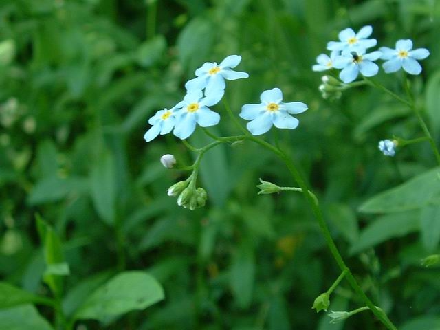
[[[255,281],[255,256],[248,244],[241,245],[232,257],[230,285],[240,308],[248,308],[252,301]]]

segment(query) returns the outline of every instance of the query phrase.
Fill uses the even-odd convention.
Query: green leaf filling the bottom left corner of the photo
[[[1,330],[52,330],[33,305],[0,309]]]

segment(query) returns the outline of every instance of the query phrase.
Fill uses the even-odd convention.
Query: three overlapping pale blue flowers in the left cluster
[[[195,71],[197,78],[189,80],[184,100],[170,110],[157,111],[148,120],[152,127],[144,135],[146,142],[155,139],[157,135],[173,134],[181,140],[189,137],[195,130],[196,124],[202,127],[214,126],[219,123],[220,115],[209,107],[220,102],[225,94],[225,79],[236,80],[248,78],[246,72],[232,70],[241,62],[241,56],[231,55],[220,64],[207,62]]]

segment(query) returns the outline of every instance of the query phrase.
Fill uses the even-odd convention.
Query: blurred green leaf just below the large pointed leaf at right
[[[360,232],[358,241],[351,245],[350,253],[357,254],[388,239],[405,236],[410,232],[419,230],[419,217],[419,211],[387,214],[378,217]]]

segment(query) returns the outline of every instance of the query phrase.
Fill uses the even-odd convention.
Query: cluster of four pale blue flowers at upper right
[[[376,39],[369,39],[373,33],[370,25],[364,26],[355,33],[353,29],[347,28],[339,33],[340,41],[330,41],[327,49],[331,50],[330,56],[320,54],[316,58],[318,64],[314,65],[314,71],[325,71],[328,69],[341,69],[340,79],[344,83],[351,83],[358,78],[359,73],[365,77],[375,76],[379,67],[374,61],[379,58],[386,61],[382,67],[388,74],[397,72],[403,68],[408,74],[420,74],[421,65],[417,60],[423,60],[429,56],[428,50],[419,48],[412,50],[410,39],[397,41],[395,49],[380,47],[379,50],[367,53],[367,50],[377,45]]]

